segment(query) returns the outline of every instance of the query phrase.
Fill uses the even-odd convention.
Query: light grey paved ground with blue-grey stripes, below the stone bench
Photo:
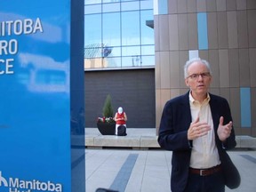
[[[228,152],[242,178],[239,188],[256,191],[256,151]],[[119,192],[170,192],[172,152],[132,149],[85,149],[86,192],[111,188]]]

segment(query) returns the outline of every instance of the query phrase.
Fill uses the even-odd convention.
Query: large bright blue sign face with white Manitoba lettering
[[[1,192],[71,191],[70,18],[68,0],[0,3]]]

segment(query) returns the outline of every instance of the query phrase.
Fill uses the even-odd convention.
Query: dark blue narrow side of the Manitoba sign
[[[84,0],[71,1],[70,28],[71,191],[83,192],[85,191]]]

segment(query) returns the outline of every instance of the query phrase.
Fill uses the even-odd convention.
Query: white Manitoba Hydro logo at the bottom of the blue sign
[[[7,190],[4,188],[8,188]],[[60,183],[53,183],[50,180],[20,180],[19,178],[6,178],[0,171],[0,191],[8,192],[33,192],[33,191],[53,191],[62,192]]]

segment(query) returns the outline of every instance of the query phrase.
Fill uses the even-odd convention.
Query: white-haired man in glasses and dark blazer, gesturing
[[[228,101],[208,92],[209,63],[199,58],[184,66],[189,92],[164,106],[158,143],[172,150],[172,192],[222,192],[227,149],[236,147]]]

